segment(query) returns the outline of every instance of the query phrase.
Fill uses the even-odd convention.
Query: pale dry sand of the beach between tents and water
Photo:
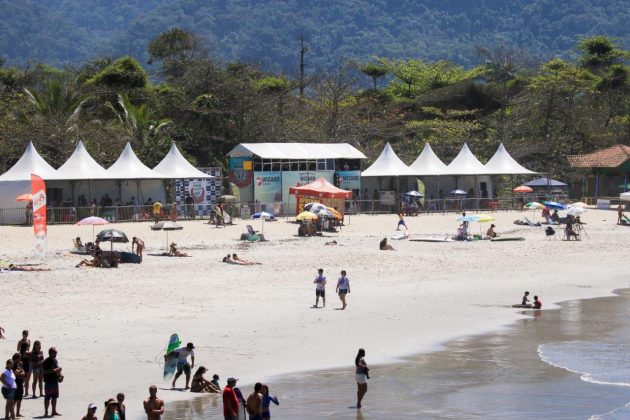
[[[219,373],[222,384],[228,376],[246,384],[283,372],[349,366],[359,347],[371,364],[385,363],[449,338],[497,329],[521,316],[508,305],[526,289],[550,308],[552,302],[628,286],[630,228],[615,225],[614,211],[589,210],[583,219],[590,239],[581,242],[547,241],[542,228],[512,224],[531,212],[494,215],[497,232],[527,240],[392,241],[397,251],[385,252],[378,242],[391,235],[397,217],[351,216],[341,233],[326,238],[298,238],[297,225],[284,219],[267,222],[270,241],[244,245],[240,233],[248,223],[259,229],[259,221],[237,220],[222,229],[195,221],[170,234],[192,258],[145,256],[141,265],[111,270],[74,268],[82,257],[67,250],[73,237],[90,237],[90,227],[51,226],[45,265],[53,271],[0,274],[0,325],[8,337],[0,341],[0,353],[9,358],[21,330],[29,329],[31,340],[59,350],[66,377],[59,400],[63,418],[80,418],[88,403],[102,407],[121,391],[134,418],[142,414],[150,384],[167,401],[194,396],[167,390],[162,381],[161,355],[173,332],[195,343],[196,365]],[[452,234],[455,219],[422,215],[407,224],[416,234]],[[144,238],[149,254],[165,247],[165,234],[150,231],[147,223],[111,227]],[[473,223],[472,229],[479,227]],[[332,239],[339,245],[324,245]],[[0,244],[0,258],[31,261],[31,228],[0,227]],[[219,262],[228,252],[263,265]],[[328,301],[325,309],[311,309],[319,267],[329,279]],[[352,288],[345,311],[335,310],[342,269]],[[22,413],[42,415],[43,399],[25,400]]]

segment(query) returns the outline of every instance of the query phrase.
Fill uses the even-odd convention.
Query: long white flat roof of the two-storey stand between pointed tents
[[[367,159],[348,143],[241,143],[229,157],[262,159]]]

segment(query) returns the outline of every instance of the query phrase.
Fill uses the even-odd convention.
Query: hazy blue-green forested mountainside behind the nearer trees
[[[304,34],[312,69],[339,56],[478,62],[504,43],[567,56],[594,34],[630,45],[628,0],[0,0],[0,55],[9,63],[81,63],[132,55],[172,27],[202,35],[215,57],[295,73]]]

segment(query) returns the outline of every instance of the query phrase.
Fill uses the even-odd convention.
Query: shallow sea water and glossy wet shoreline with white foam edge
[[[508,329],[370,366],[360,410],[354,355],[348,369],[272,378],[271,393],[280,398],[272,418],[630,419],[630,290],[524,313],[531,316]],[[241,385],[245,395],[250,388]],[[165,418],[221,419],[221,399],[169,404]]]

